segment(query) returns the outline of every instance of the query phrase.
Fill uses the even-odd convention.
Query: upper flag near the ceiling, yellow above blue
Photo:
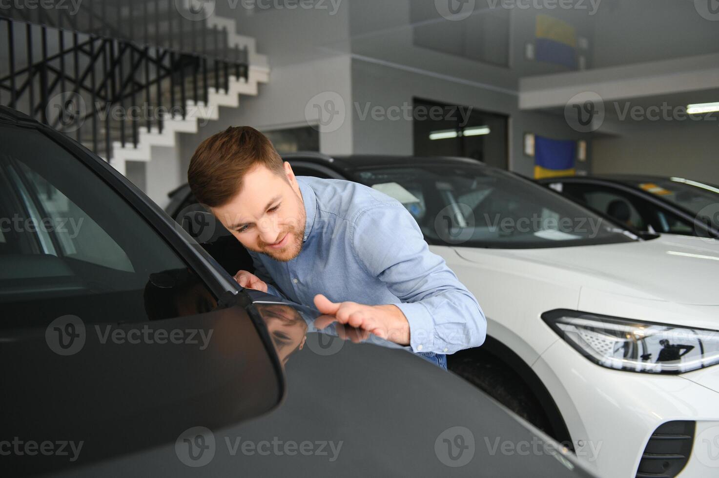
[[[536,59],[577,69],[577,31],[562,20],[537,15]]]

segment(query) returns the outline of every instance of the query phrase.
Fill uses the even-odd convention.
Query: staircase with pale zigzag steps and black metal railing
[[[215,0],[83,0],[74,14],[54,3],[0,10],[0,103],[123,174],[268,81],[267,58]]]

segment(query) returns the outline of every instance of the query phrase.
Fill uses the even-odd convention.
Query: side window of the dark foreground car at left
[[[209,311],[216,298],[101,178],[32,129],[0,126],[3,327],[137,322]]]

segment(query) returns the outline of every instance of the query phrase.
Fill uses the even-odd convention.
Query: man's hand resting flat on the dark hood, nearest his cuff
[[[392,341],[395,344],[409,345],[409,322],[400,308],[396,305],[362,305],[356,302],[331,302],[322,294],[315,295],[314,303],[318,311],[326,316],[317,319],[315,326],[324,328],[330,323],[337,321],[342,325],[358,328],[360,331],[375,334],[381,339]],[[342,339],[341,332],[337,331]],[[365,334],[351,335],[352,341],[355,338],[366,338]]]

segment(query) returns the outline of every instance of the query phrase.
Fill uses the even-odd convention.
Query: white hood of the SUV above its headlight
[[[719,241],[664,234],[648,241],[543,249],[455,247],[482,267],[634,298],[719,305]]]

